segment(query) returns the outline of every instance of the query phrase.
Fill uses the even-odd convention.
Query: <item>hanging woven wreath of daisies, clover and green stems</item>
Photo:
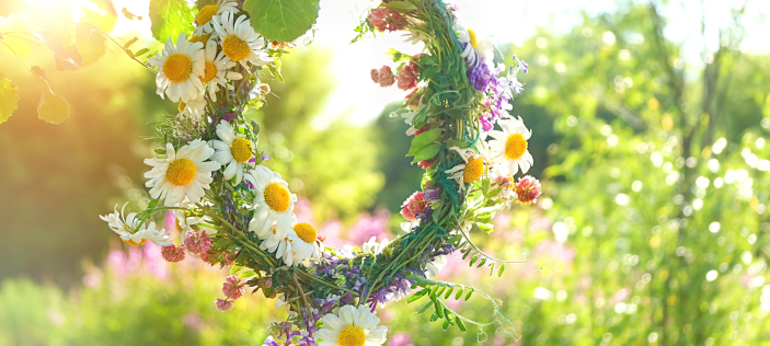
[[[514,201],[533,203],[540,194],[537,180],[513,177],[532,164],[531,132],[507,113],[524,86],[516,76],[527,65],[516,59],[507,70],[495,66],[490,39],[463,28],[456,9],[440,0],[384,1],[372,9],[354,42],[402,31],[409,42],[425,45],[416,56],[393,53],[394,69],[371,71],[375,82],[407,93],[400,116],[412,126],[407,155],[425,170],[422,191],[404,203],[404,235],[324,246],[323,234],[297,221],[297,197],[286,181],[262,165],[268,158],[258,150],[260,126],[243,116],[269,92],[261,76],[280,79],[278,58],[315,21],[318,0],[285,2],[292,4],[198,1],[194,34],[174,37],[175,44],[169,38],[161,53],[142,62],[157,72],[158,94],[177,102],[180,113],[158,126],[159,148],[145,160],[152,166],[145,173],[153,198],[148,208],[125,215],[126,205],[119,212],[116,206],[102,219],[131,245],[148,240],[162,245],[169,262],[189,255],[230,266],[225,298],[215,302],[222,311],[246,289],[278,297],[289,318],[271,325],[265,345],[382,345],[387,327],[379,325],[376,308],[424,297],[429,301],[420,312],[433,310],[430,321],[443,320],[445,328],[464,332],[472,324],[483,339],[484,326],[497,324],[498,332],[517,338],[498,300],[429,278],[455,251],[470,257],[471,266],[487,266],[491,275],[502,275],[506,263],[522,263],[487,256],[470,233],[491,232],[496,211]],[[272,22],[281,11],[300,20]],[[302,18],[310,21],[301,23]],[[160,210],[173,211],[179,239],[151,221]],[[474,322],[444,302],[469,299],[474,291],[492,302],[492,321]]]

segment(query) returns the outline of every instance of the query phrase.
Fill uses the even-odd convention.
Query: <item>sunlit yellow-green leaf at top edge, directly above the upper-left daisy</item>
[[[195,16],[185,0],[150,0],[150,21],[152,37],[165,43],[169,37],[192,33]]]

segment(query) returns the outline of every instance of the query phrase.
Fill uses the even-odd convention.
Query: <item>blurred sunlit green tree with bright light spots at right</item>
[[[758,158],[770,79],[757,71],[770,59],[739,50],[744,5],[715,27],[717,50],[686,61],[663,35],[664,7],[628,5],[515,48],[532,61],[524,108],[548,113],[525,122],[552,122],[559,135],[544,187],[554,234],[577,249],[563,275],[579,311],[556,330],[542,325],[555,318],[540,311],[548,304],[520,310],[531,326],[525,344],[757,345],[768,336],[760,316],[770,304],[759,302],[770,299],[760,289],[770,162]]]

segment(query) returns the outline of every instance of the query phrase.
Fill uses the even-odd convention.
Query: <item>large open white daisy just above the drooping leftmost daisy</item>
[[[219,170],[216,161],[206,161],[214,149],[205,141],[196,139],[176,152],[174,146],[165,145],[165,158],[145,159],[152,170],[145,173],[149,178],[146,186],[151,187],[150,196],[164,200],[166,206],[175,206],[184,200],[196,204],[204,196],[204,189],[209,188],[214,178],[211,172]],[[204,162],[205,161],[205,162]]]

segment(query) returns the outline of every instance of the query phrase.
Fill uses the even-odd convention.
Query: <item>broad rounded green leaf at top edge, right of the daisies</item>
[[[320,0],[246,0],[251,26],[267,39],[291,42],[315,24]]]

